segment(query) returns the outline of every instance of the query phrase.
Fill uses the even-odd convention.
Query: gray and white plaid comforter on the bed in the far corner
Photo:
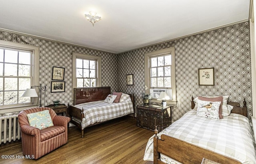
[[[78,104],[75,107],[84,109],[84,118],[81,122],[82,129],[96,122],[112,120],[134,113],[132,101],[108,104],[102,100]]]

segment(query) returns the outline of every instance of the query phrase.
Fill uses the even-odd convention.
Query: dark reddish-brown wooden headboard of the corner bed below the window
[[[74,105],[105,100],[110,93],[110,86],[74,88]]]

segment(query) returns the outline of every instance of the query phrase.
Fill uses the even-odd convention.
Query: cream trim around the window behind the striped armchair
[[[40,50],[39,47],[37,46],[32,46],[28,44],[21,44],[21,43],[16,43],[16,42],[9,42],[5,40],[0,40],[0,46],[1,47],[6,47],[6,48],[14,48],[14,49],[19,49],[19,50],[28,50],[32,51],[32,86],[39,86],[39,56],[40,56]],[[39,94],[39,93],[37,93]],[[13,110],[8,110],[8,112],[16,111],[16,109],[23,110],[26,109],[28,106],[36,106],[36,103],[38,101],[38,97],[32,98],[32,104],[29,105],[22,105],[22,106],[6,106],[1,108],[1,110],[4,109],[13,109]],[[2,112],[1,112],[2,113]]]

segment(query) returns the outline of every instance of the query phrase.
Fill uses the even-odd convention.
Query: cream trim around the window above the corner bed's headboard
[[[97,86],[101,86],[101,57],[87,54],[72,53],[72,90],[76,88],[76,58],[97,60]]]

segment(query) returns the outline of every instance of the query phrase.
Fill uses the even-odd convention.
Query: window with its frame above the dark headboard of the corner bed
[[[73,88],[101,86],[101,57],[73,52]]]

